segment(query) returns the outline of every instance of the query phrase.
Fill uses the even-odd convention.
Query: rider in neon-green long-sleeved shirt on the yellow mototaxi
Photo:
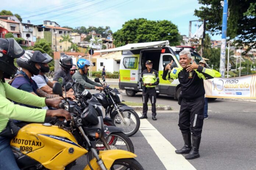
[[[71,115],[63,109],[34,109],[19,106],[10,101],[13,100],[18,103],[24,103],[37,107],[44,107],[46,105],[58,107],[58,104],[61,101],[50,101],[49,99],[32,95],[31,93],[13,88],[7,82],[5,82],[4,78],[13,77],[17,71],[17,68],[14,66],[14,59],[21,57],[23,54],[24,50],[13,38],[0,38],[0,167],[4,170],[19,169],[10,147],[11,135],[15,134],[8,136],[6,133],[9,125],[13,125],[13,123],[10,123],[9,119],[43,122],[45,117],[56,116],[65,117],[66,119],[71,118]]]

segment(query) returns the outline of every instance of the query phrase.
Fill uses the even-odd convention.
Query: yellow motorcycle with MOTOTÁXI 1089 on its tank
[[[62,94],[62,85],[55,83],[55,94]],[[69,106],[69,103],[65,105]],[[81,115],[71,112],[72,119],[62,126],[49,123],[31,123],[22,127],[10,145],[13,148],[16,162],[21,170],[64,170],[79,157],[92,152],[94,158],[88,161],[84,170],[143,170],[135,160],[137,156],[124,150],[96,151],[96,138],[104,135],[103,118],[97,117],[90,109],[85,109]],[[88,122],[90,127],[88,130]],[[84,130],[84,126],[87,127]],[[78,130],[85,145],[78,144],[72,132]],[[87,156],[88,158],[88,156]],[[88,159],[89,160],[89,159]]]

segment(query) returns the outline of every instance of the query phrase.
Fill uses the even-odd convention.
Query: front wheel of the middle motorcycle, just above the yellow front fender
[[[116,141],[118,138],[120,138],[122,140],[122,142]],[[124,134],[122,132],[113,132],[106,138],[106,140],[107,140],[107,143],[109,143],[110,148],[112,148],[112,149],[121,149],[121,150],[125,150],[125,151],[134,153],[134,145],[132,144],[131,139],[126,134]],[[119,144],[125,143],[127,148],[114,148],[115,144],[117,144],[117,143],[119,143]],[[102,141],[100,141],[100,139],[98,139],[96,141],[95,149],[97,149],[98,151],[104,151],[104,150],[106,150],[106,147],[104,147],[104,145],[102,144]],[[92,152],[88,152],[87,156],[89,156],[89,160],[92,160],[94,158]]]

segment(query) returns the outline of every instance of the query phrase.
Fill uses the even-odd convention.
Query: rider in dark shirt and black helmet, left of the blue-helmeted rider
[[[60,68],[54,72],[53,83],[58,81],[59,77],[63,77],[66,82],[72,79],[70,69],[73,66],[73,60],[68,55],[60,56]]]

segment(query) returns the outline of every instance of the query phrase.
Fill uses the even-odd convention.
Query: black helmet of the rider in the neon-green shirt
[[[0,70],[3,71],[4,78],[13,77],[17,71],[14,58],[21,57],[24,52],[13,38],[0,38]]]

